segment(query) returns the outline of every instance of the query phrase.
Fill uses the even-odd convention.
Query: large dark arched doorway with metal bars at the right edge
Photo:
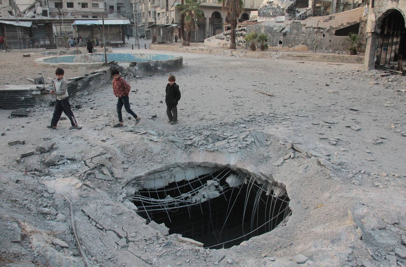
[[[397,66],[406,63],[406,28],[404,16],[396,9],[389,9],[379,18],[376,30],[380,30],[376,47],[376,67]],[[401,66],[399,65],[399,67]]]

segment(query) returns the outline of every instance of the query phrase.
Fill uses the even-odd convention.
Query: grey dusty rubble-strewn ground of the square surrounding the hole
[[[95,266],[298,266],[298,254],[307,257],[302,266],[405,264],[404,77],[352,64],[182,55],[184,67],[173,73],[182,93],[179,124],[166,123],[160,103],[166,75],[129,81],[132,109],[142,117],[136,126],[124,112],[126,127],[112,128],[111,86],[71,99],[82,104],[73,110],[82,130],[69,131],[68,120],[58,130],[45,128],[52,107],[13,119],[0,111],[2,266],[84,265],[62,193],[73,202],[79,238]],[[266,142],[216,147],[202,136],[252,130]],[[51,152],[60,160],[69,160],[48,167],[36,152],[16,163],[44,139],[56,143]],[[8,145],[15,140],[25,144]],[[274,164],[287,143],[302,151]],[[119,170],[111,181],[95,177],[105,159]],[[136,190],[132,179],[189,162],[234,166],[285,185],[292,215],[227,250],[199,249],[145,226],[125,201]]]

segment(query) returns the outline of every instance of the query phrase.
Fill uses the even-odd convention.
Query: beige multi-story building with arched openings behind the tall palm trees
[[[180,12],[176,9],[180,0],[140,1],[142,21],[145,25],[180,24]],[[251,11],[257,11],[261,4],[262,0],[244,0],[244,11],[240,14],[239,20],[248,20]],[[204,40],[207,36],[217,35],[225,30],[227,11],[222,9],[222,4],[218,0],[203,0],[200,9],[203,11],[203,18],[198,20],[198,40]],[[179,36],[179,33],[176,34]],[[192,33],[192,40],[194,40],[194,33]]]

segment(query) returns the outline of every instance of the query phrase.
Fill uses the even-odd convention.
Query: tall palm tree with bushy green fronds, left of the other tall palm
[[[180,10],[181,15],[185,17],[185,30],[188,32],[186,43],[182,43],[182,45],[190,46],[192,30],[197,30],[197,18],[203,17],[203,11],[199,9],[200,3],[197,0],[185,0],[185,4],[178,4],[176,6]]]

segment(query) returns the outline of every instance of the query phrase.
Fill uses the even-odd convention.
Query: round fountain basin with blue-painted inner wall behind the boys
[[[134,68],[134,74],[145,76],[154,74],[166,74],[182,68],[183,57],[165,54],[131,54],[131,53],[107,53],[107,63],[128,62]],[[98,69],[104,65],[104,53],[69,55],[69,56],[47,56],[36,59],[34,65],[37,67],[61,67],[74,69],[87,67]]]

